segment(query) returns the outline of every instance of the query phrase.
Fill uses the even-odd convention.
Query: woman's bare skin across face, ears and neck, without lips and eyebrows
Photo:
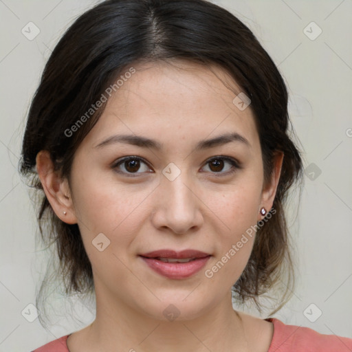
[[[135,65],[137,72],[109,98],[78,146],[70,184],[52,172],[47,152],[37,155],[45,194],[62,221],[78,223],[94,273],[96,319],[69,336],[70,352],[160,347],[163,352],[266,352],[270,347],[272,323],[238,315],[231,303],[231,287],[248,262],[255,236],[211,278],[205,272],[263,219],[262,207],[272,208],[283,154],[276,155],[272,179],[264,184],[252,110],[232,103],[241,89],[217,67],[212,67],[217,76],[194,63],[179,61],[177,67]],[[195,149],[201,140],[230,132],[248,145],[236,141]],[[98,147],[117,134],[148,137],[162,148]],[[126,156],[142,158],[136,172],[127,162],[116,166]],[[210,159],[220,156],[236,159],[241,167],[223,159],[222,168],[215,168]],[[171,162],[180,170],[173,181],[162,173]],[[100,233],[110,241],[102,252],[92,245]],[[139,256],[164,248],[201,250],[211,257],[197,274],[171,279]],[[173,321],[163,314],[170,305],[179,312]]]

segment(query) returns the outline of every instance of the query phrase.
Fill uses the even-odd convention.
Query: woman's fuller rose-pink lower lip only
[[[158,261],[157,259],[145,258],[141,256],[144,262],[151,267],[155,272],[166,276],[167,278],[188,278],[201,270],[206,265],[210,256],[204,258],[195,259],[188,263],[166,263],[164,261]]]

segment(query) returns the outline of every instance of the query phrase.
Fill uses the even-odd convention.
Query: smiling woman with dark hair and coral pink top
[[[232,291],[259,305],[292,276],[288,125],[278,69],[223,8],[115,0],[79,17],[32,101],[21,172],[43,190],[67,293],[94,292],[96,319],[35,352],[351,351],[232,308]]]

